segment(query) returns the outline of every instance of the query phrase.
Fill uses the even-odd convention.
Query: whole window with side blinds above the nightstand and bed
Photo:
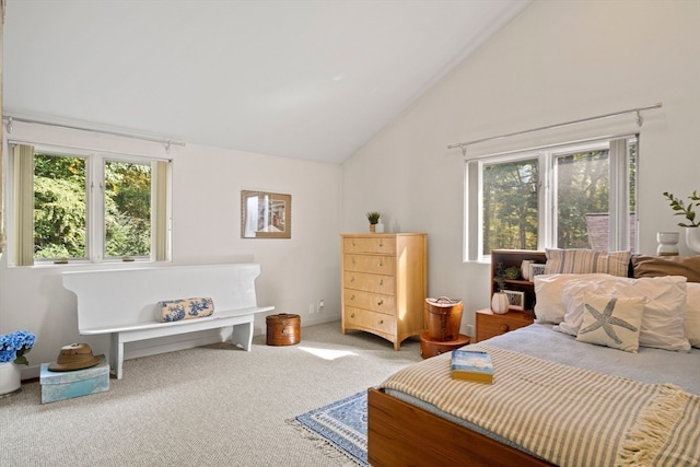
[[[467,259],[635,246],[637,137],[467,162]]]

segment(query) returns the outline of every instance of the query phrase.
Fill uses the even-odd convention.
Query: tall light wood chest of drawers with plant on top
[[[428,235],[342,234],[341,327],[381,336],[398,350],[424,330]]]

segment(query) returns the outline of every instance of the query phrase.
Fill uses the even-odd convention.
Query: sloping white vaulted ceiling
[[[529,0],[8,0],[4,115],[341,163]]]

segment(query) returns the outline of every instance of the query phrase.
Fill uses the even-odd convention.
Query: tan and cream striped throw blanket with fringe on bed
[[[487,345],[492,385],[453,380],[450,353],[381,387],[424,400],[560,466],[698,466],[700,397]]]

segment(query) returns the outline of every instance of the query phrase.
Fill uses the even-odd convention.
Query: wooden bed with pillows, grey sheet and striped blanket
[[[538,323],[469,346],[490,353],[492,385],[452,380],[446,353],[370,388],[370,464],[700,465],[700,257],[682,276],[664,276],[668,258],[637,259],[649,257],[631,258],[632,278],[536,281]],[[637,331],[597,342],[581,310],[611,297],[608,316]]]

